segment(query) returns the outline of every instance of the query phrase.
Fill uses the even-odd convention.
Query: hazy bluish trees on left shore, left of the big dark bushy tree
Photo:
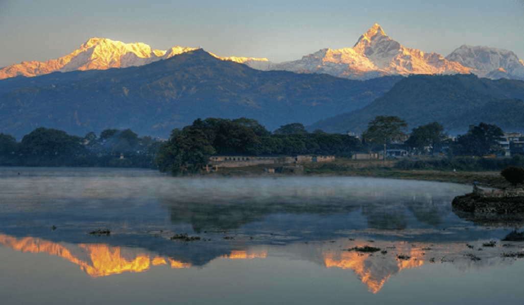
[[[40,127],[24,135],[21,142],[0,133],[0,165],[155,168],[160,144],[130,129],[106,129],[99,137],[89,132],[82,138]]]

